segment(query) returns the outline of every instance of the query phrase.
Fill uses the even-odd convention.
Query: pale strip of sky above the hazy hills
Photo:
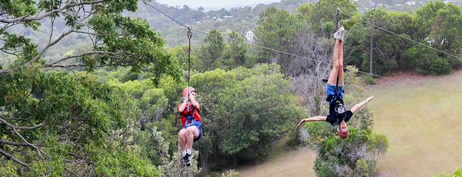
[[[238,5],[238,6],[245,6],[245,5],[252,5],[252,4],[260,4],[267,2],[279,2],[280,0],[156,0],[161,4],[168,4],[169,6],[184,6],[187,5],[189,8],[195,7],[225,7],[230,5]],[[225,7],[226,8],[226,7]],[[228,8],[226,8],[228,9]]]

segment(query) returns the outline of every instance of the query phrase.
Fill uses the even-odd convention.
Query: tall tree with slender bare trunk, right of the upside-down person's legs
[[[388,13],[383,9],[372,9],[367,11],[364,15],[361,15],[361,19],[370,23],[365,24],[363,22],[358,22],[353,25],[351,31],[354,35],[361,36],[363,41],[368,45],[369,52],[363,50],[364,53],[370,56],[369,61],[369,73],[372,74],[372,63],[373,63],[373,55],[374,51],[378,51],[380,55],[383,55],[383,52],[380,50],[382,47],[374,41],[374,37],[381,34],[383,31],[371,24],[376,26],[380,26],[384,29],[393,30],[394,22],[392,18],[389,17]],[[365,62],[363,62],[363,65]]]

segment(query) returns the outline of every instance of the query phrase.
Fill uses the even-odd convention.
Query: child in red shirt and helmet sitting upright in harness
[[[182,103],[178,106],[178,112],[181,114],[181,122],[183,123],[183,127],[178,133],[178,144],[180,144],[186,166],[191,165],[193,141],[199,140],[202,136],[199,110],[201,110],[201,105],[196,102],[196,91],[193,87],[186,87],[183,90]]]

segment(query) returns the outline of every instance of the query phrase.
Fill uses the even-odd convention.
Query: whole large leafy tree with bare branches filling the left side
[[[137,0],[6,0],[0,3],[0,50],[16,57],[0,65],[0,176],[159,176],[140,160],[127,136],[134,120],[128,96],[86,72],[52,68],[130,67],[155,84],[169,75],[180,80],[177,61],[163,49],[164,39],[135,12]],[[40,46],[13,31],[38,31],[51,23]],[[65,20],[62,33],[55,20]],[[71,34],[91,38],[91,48],[54,60],[43,55]]]

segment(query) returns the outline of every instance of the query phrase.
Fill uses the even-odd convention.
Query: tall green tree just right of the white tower
[[[261,12],[257,24],[258,27],[255,29],[256,45],[283,52],[292,48],[293,37],[302,26],[300,19],[295,15],[275,7],[269,7],[265,12]],[[290,55],[267,49],[259,48],[258,50],[258,62],[278,63],[284,69],[283,72],[288,69],[287,60],[291,57]]]

